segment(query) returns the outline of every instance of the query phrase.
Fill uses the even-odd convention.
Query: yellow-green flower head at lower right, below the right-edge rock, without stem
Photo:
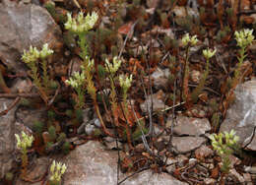
[[[233,130],[231,130],[230,133],[224,132],[224,134],[220,133],[219,135],[213,134],[210,136],[210,139],[212,140],[214,150],[220,155],[231,154],[231,149],[234,148],[239,141],[239,137],[235,136]]]

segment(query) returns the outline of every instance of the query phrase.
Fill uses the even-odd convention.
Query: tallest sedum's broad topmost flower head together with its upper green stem
[[[68,21],[65,24],[65,29],[79,36],[78,44],[81,49],[80,56],[86,60],[89,54],[86,34],[95,27],[98,15],[96,12],[93,12],[91,15],[88,14],[85,16],[83,12],[80,12],[76,18],[72,18],[70,13],[67,14],[67,17]]]

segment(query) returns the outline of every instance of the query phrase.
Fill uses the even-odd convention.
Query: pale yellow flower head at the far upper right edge
[[[254,39],[254,35],[252,35],[253,30],[245,29],[243,31],[235,31],[235,39],[237,41],[237,45],[241,48],[245,48],[250,45]]]

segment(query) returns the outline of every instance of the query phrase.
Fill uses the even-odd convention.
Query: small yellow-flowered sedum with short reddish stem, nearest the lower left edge
[[[15,134],[17,140],[17,148],[22,152],[22,175],[26,174],[27,165],[28,165],[28,148],[32,147],[33,137],[27,135],[25,132],[22,132],[22,137],[18,134]]]

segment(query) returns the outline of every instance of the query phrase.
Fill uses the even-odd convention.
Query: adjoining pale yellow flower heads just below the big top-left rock
[[[32,63],[36,62],[39,58],[45,59],[47,56],[51,55],[53,53],[53,50],[48,48],[48,44],[45,43],[42,46],[42,49],[40,51],[37,50],[36,47],[30,47],[29,51],[24,50],[24,54],[22,56],[22,59],[25,63]]]

